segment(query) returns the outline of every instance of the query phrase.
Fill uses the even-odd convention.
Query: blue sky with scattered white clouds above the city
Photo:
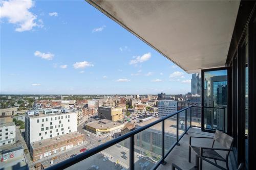
[[[84,1],[1,2],[2,94],[185,94],[190,79]]]

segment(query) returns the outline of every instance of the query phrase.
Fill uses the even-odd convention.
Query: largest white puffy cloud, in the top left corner
[[[42,28],[42,20],[38,20],[37,16],[29,11],[34,7],[34,2],[26,1],[1,1],[0,18],[7,18],[9,23],[16,25],[15,31],[23,32],[32,30],[34,27]]]

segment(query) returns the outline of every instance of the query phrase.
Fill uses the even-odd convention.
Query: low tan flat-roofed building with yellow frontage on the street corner
[[[102,119],[95,122],[90,122],[86,124],[86,130],[93,132],[97,135],[100,134],[114,134],[121,132],[121,129],[124,127],[124,124],[118,122],[112,122],[108,119]]]

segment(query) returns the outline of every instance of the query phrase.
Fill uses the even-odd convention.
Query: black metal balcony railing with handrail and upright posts
[[[154,164],[153,168],[152,169],[157,169],[157,167],[162,163],[162,164],[165,164],[165,158],[168,156],[168,154],[174,149],[174,147],[176,145],[179,145],[179,141],[181,140],[181,138],[183,137],[184,134],[187,133],[187,130],[190,128],[190,127],[193,127],[192,125],[192,108],[194,108],[195,106],[189,106],[189,107],[186,107],[184,109],[181,109],[179,111],[177,111],[176,113],[173,113],[173,114],[170,114],[166,117],[163,117],[163,118],[160,118],[158,120],[156,120],[155,122],[152,122],[150,124],[147,124],[145,126],[142,126],[138,129],[135,129],[134,131],[131,131],[129,133],[126,133],[120,137],[117,137],[115,139],[112,139],[111,141],[108,141],[106,143],[103,143],[93,149],[90,149],[89,151],[87,152],[83,152],[81,154],[78,154],[74,157],[71,157],[65,161],[62,161],[62,162],[59,162],[57,164],[54,164],[50,167],[48,167],[47,169],[48,170],[51,170],[51,169],[65,169],[65,168],[68,168],[80,161],[83,161],[91,156],[94,156],[95,154],[99,153],[99,152],[102,152],[103,150],[105,149],[108,149],[110,147],[112,147],[113,145],[119,143],[119,142],[122,142],[124,141],[125,139],[129,139],[128,140],[130,142],[130,162],[129,162],[129,169],[133,170],[135,169],[135,162],[134,162],[134,158],[135,158],[135,135],[138,135],[140,132],[144,131],[144,130],[149,130],[149,129],[152,129],[153,126],[157,125],[157,124],[161,124],[161,127],[160,129],[161,130],[157,130],[159,134],[161,134],[161,144],[160,144],[160,147],[161,147],[161,158],[158,159],[158,161]],[[195,108],[198,108],[198,107],[195,107]],[[174,127],[176,128],[176,132],[174,131],[174,136],[176,135],[176,139],[174,138],[174,142],[173,144],[166,148],[165,147],[165,135],[166,135],[166,132],[165,132],[165,122],[166,121],[172,121],[173,123],[175,123],[176,125],[174,125]],[[168,123],[168,122],[167,122]],[[167,126],[168,127],[168,126]],[[182,132],[182,133],[181,133]],[[173,132],[172,132],[173,133]],[[179,134],[181,133],[181,134]],[[137,136],[136,136],[137,137]],[[136,139],[137,140],[137,139]],[[127,140],[126,140],[127,141]],[[136,146],[137,147],[137,146]],[[137,169],[137,168],[136,168]]]

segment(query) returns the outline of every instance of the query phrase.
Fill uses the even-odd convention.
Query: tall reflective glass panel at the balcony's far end
[[[204,73],[204,127],[225,130],[227,124],[227,70]],[[213,108],[207,108],[213,107]]]

